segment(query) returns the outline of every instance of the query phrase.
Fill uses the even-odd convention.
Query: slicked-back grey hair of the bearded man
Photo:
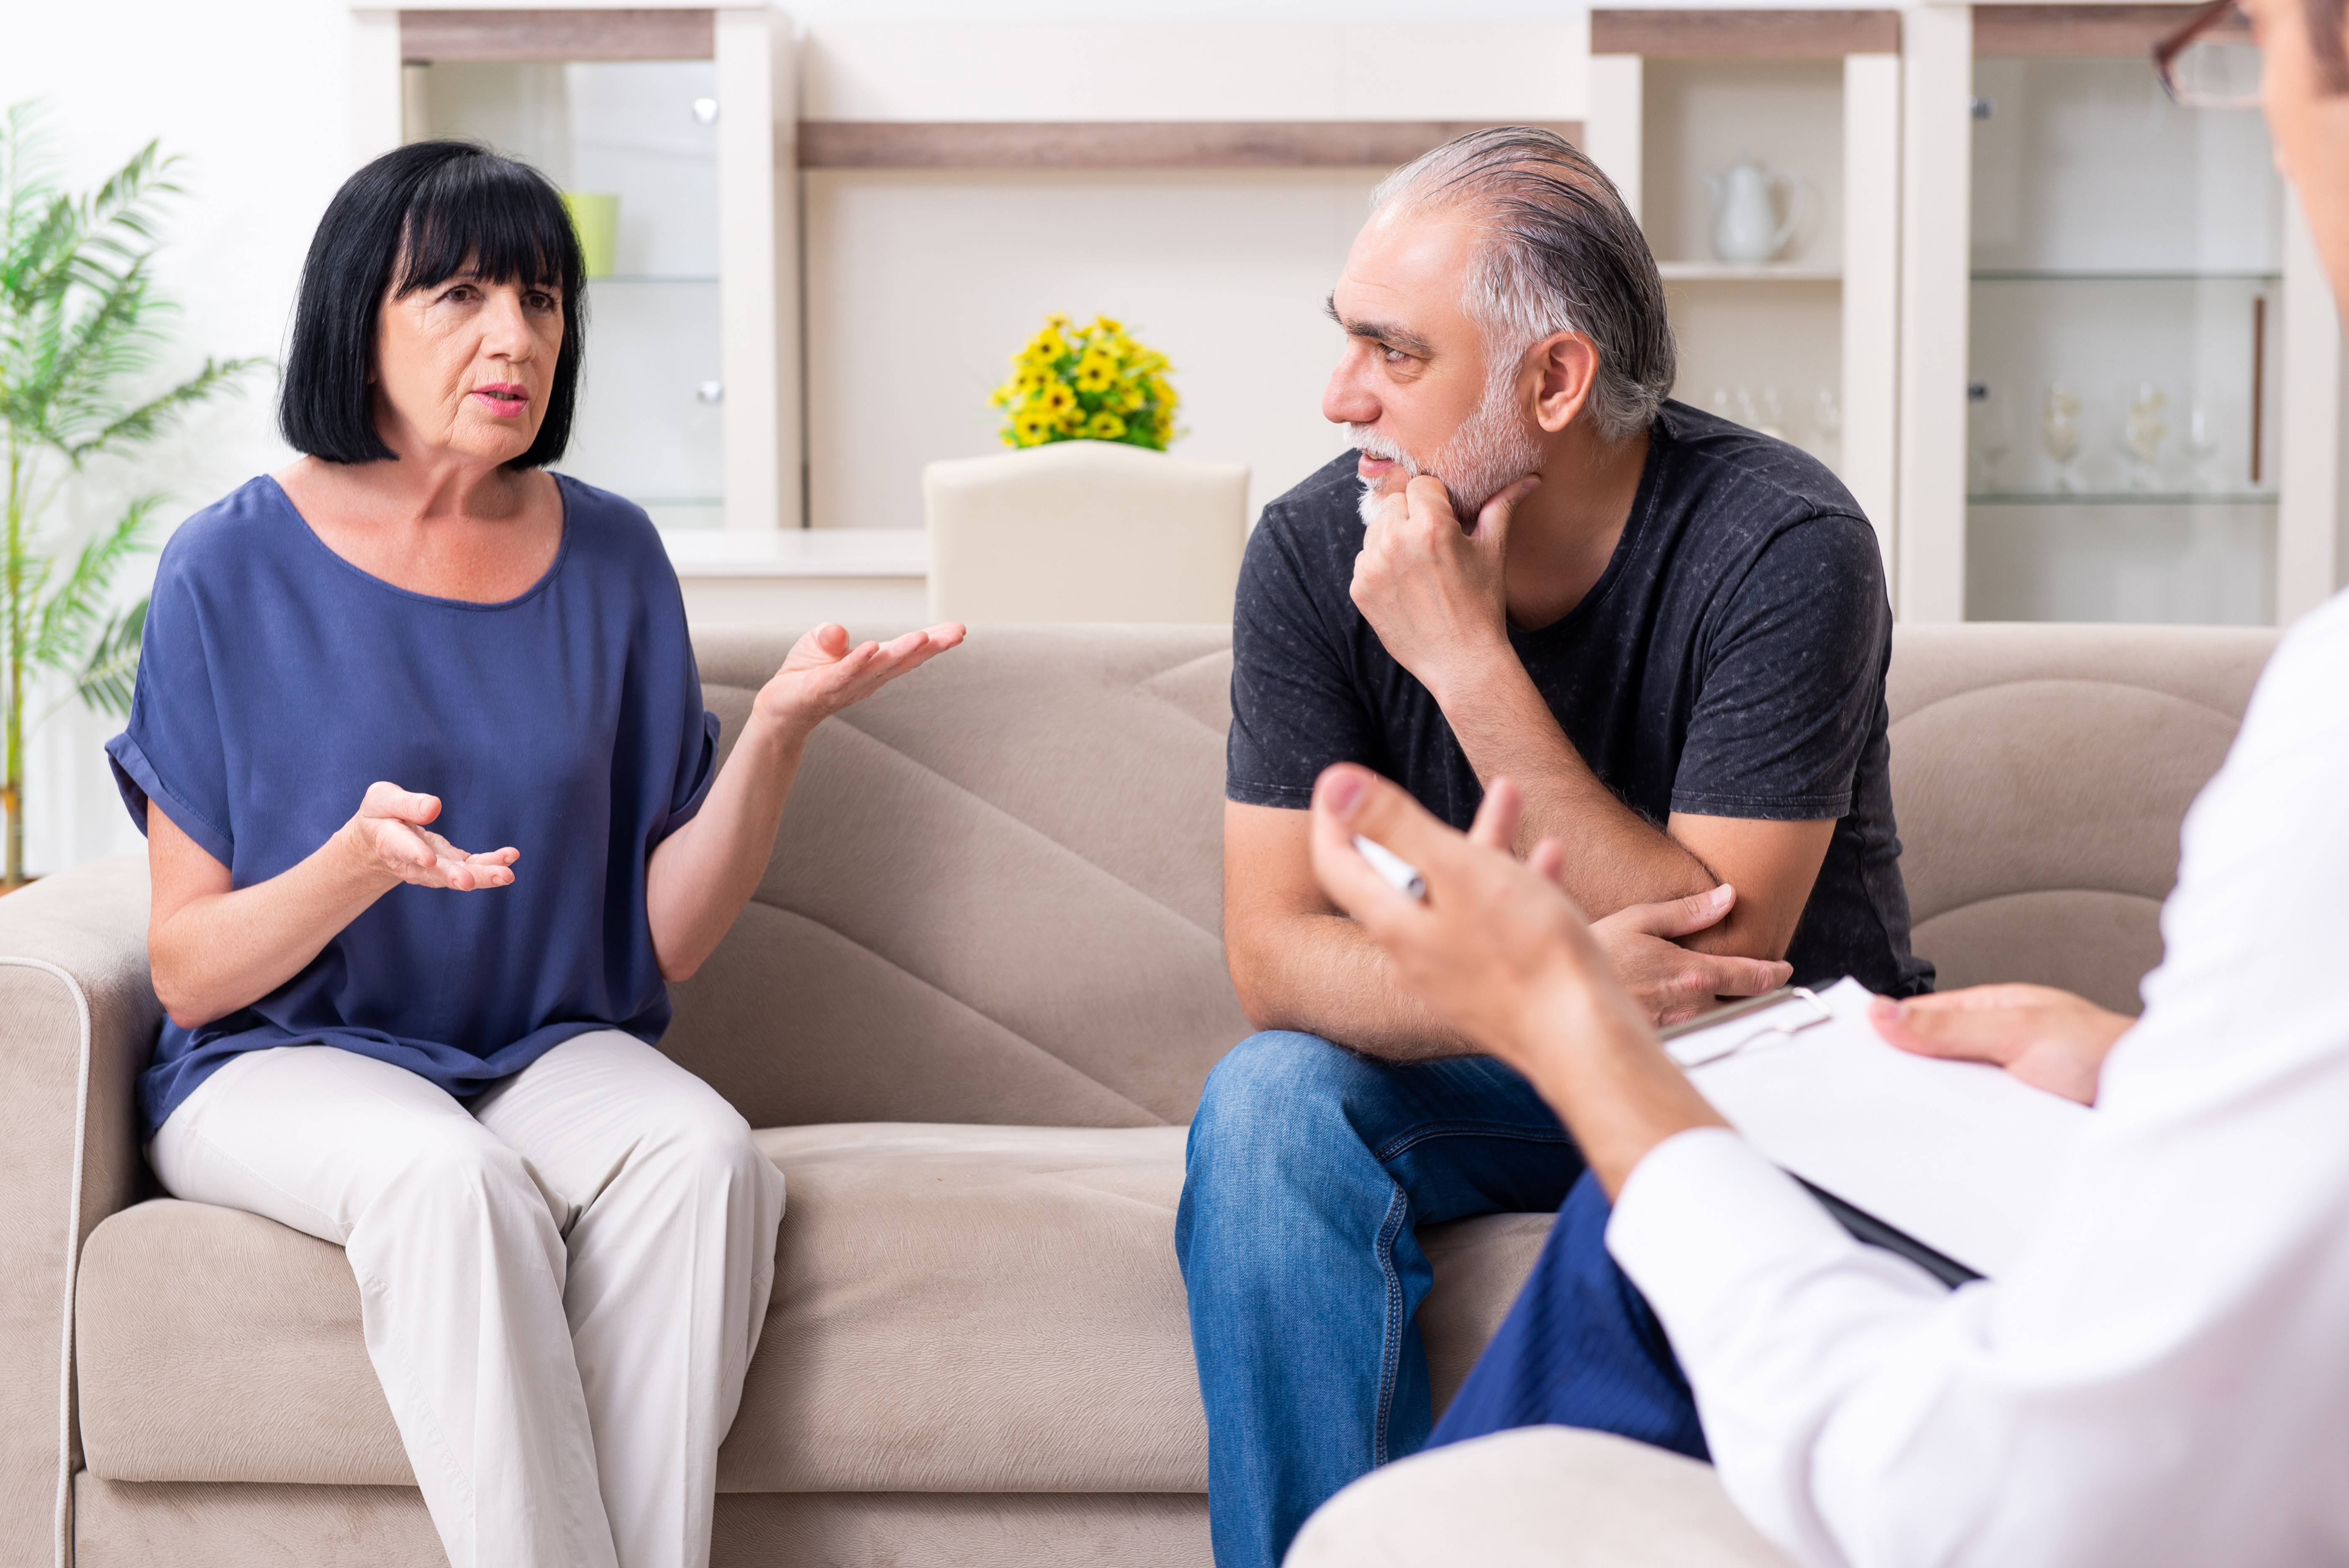
[[[1656,256],[1614,183],[1564,136],[1532,124],[1454,136],[1379,181],[1369,207],[1459,209],[1485,232],[1463,305],[1496,373],[1574,331],[1600,359],[1583,404],[1597,434],[1621,441],[1656,420],[1677,373]]]

